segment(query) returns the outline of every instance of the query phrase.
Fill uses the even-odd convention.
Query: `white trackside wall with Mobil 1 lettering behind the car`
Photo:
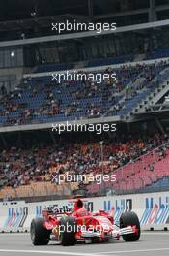
[[[169,192],[85,198],[85,205],[91,211],[104,209],[108,212],[113,207],[116,221],[123,212],[135,211],[142,230],[169,229]],[[29,232],[31,220],[42,216],[42,208],[48,206],[67,210],[72,208],[73,203],[70,200],[1,202],[0,232]]]

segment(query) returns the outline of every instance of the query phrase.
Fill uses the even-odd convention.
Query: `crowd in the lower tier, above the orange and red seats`
[[[124,138],[123,138],[124,137]],[[16,188],[32,181],[52,181],[53,174],[74,172],[75,174],[105,174],[124,166],[128,162],[165,143],[168,138],[155,133],[133,139],[133,136],[105,141],[103,159],[99,142],[64,144],[33,147],[12,147],[0,152],[0,176],[3,185]],[[1,184],[2,185],[2,184]]]

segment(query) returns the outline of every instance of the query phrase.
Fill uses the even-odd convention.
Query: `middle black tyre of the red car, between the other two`
[[[73,217],[65,216],[60,220],[60,240],[63,246],[73,246],[76,242],[77,232],[76,220]]]

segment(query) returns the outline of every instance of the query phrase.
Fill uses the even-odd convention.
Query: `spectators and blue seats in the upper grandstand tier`
[[[123,65],[118,69],[107,69],[116,73],[116,82],[110,80],[98,84],[95,81],[41,82],[26,80],[0,101],[1,125],[20,125],[46,122],[47,118],[99,117],[111,108],[116,115],[126,108],[125,102],[136,97],[144,88],[157,86],[155,77],[168,67],[167,61],[150,65]],[[104,72],[104,71],[102,71]],[[43,118],[42,118],[43,117]],[[56,119],[57,121],[57,119]]]

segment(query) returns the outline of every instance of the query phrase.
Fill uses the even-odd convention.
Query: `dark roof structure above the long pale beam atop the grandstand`
[[[8,41],[22,38],[22,33],[26,38],[47,36],[51,33],[51,22],[66,19],[105,20],[125,26],[168,18],[169,1],[161,0],[160,5],[158,2],[151,7],[151,1],[147,0],[0,1],[0,37]]]

